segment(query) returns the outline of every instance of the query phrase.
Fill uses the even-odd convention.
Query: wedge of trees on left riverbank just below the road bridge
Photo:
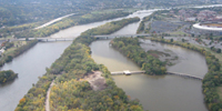
[[[0,67],[2,67],[7,62],[12,61],[13,58],[36,46],[38,43],[38,40],[26,41],[26,44],[22,44],[21,42],[22,41],[6,42],[6,46],[2,46],[6,47],[6,51],[1,56]]]

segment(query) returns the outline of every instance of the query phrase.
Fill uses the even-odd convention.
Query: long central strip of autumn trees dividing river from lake
[[[124,19],[110,22],[104,26],[90,29],[78,37],[73,43],[64,50],[62,56],[40,78],[37,84],[29,90],[19,102],[16,111],[23,110],[46,110],[44,101],[47,90],[53,78],[56,84],[52,87],[50,108],[54,110],[129,110],[141,111],[142,105],[138,101],[130,101],[122,89],[119,89],[111,79],[110,71],[97,64],[90,57],[88,47],[95,39],[93,34],[110,34],[121,29],[134,19]],[[121,27],[120,27],[121,26]],[[102,31],[105,28],[107,31]],[[82,79],[90,72],[101,71],[105,78],[107,88],[94,91],[90,83]],[[72,89],[70,89],[72,88]]]

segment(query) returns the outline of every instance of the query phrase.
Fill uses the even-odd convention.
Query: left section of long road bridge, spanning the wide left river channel
[[[73,41],[75,38],[29,38],[28,40],[38,40],[42,42],[54,42],[54,41]],[[11,39],[11,41],[26,41],[26,38]]]

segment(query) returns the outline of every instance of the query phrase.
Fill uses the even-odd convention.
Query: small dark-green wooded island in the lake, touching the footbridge
[[[145,52],[138,38],[115,38],[111,41],[113,48],[134,61],[148,74],[165,74],[165,63]]]

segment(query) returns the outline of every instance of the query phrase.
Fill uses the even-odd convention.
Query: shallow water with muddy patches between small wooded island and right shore
[[[199,52],[178,46],[151,42],[150,40],[143,40],[141,47],[145,51],[158,50],[162,52],[172,51],[173,53],[175,53],[179,58],[176,60],[176,65],[168,67],[168,71],[186,73],[200,78],[203,78],[208,72],[205,57],[200,54]]]

